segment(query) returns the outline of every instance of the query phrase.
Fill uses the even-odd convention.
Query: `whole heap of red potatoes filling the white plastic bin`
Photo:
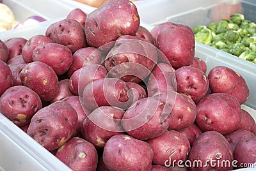
[[[244,78],[207,74],[190,27],[140,25],[131,1],[109,0],[1,41],[1,114],[72,170],[252,167]]]

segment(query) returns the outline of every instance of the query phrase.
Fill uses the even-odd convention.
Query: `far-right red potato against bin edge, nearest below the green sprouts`
[[[228,93],[243,104],[249,98],[249,88],[244,78],[226,66],[215,66],[208,74],[212,93]]]

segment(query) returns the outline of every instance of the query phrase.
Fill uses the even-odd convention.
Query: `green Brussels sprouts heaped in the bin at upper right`
[[[229,20],[196,26],[193,32],[200,43],[256,63],[256,24],[241,13],[230,15]]]

